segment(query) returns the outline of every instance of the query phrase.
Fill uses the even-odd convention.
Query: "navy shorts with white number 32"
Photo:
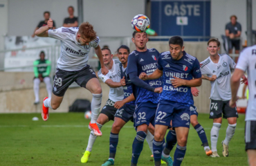
[[[154,126],[157,104],[153,102],[140,102],[136,104],[134,112],[134,126],[138,127],[141,124],[151,123]]]

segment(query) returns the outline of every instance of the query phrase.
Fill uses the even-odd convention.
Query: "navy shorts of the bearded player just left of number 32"
[[[131,120],[131,122],[134,122],[134,111],[134,104],[125,104],[120,109],[118,109],[118,111],[116,111],[115,117],[120,118],[125,122],[128,122],[129,120]]]

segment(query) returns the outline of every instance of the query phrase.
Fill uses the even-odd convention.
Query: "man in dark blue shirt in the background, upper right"
[[[230,16],[230,22],[226,24],[226,37],[228,37],[228,53],[232,53],[232,48],[235,47],[235,53],[239,54],[240,50],[240,35],[241,24],[237,22],[237,16]]]

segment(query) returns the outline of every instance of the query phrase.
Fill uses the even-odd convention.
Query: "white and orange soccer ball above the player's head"
[[[134,19],[131,20],[131,28],[134,28],[139,33],[143,33],[149,28],[150,21],[145,15],[136,15]]]

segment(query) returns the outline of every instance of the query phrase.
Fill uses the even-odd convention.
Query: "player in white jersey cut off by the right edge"
[[[256,165],[256,45],[241,51],[235,72],[231,77],[232,98],[230,106],[235,107],[240,77],[247,70],[249,100],[246,109],[245,142],[250,166]]]

